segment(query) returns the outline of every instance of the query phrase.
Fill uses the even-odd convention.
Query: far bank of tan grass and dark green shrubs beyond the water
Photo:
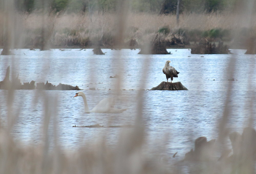
[[[4,14],[1,15],[0,46],[5,44]],[[40,48],[46,44],[49,48],[83,48],[100,44],[112,48],[120,38],[122,47],[129,48],[130,40],[138,45],[146,42],[156,32],[165,32],[166,40],[175,36],[190,43],[198,42],[202,37],[212,41],[223,40],[232,47],[242,47],[246,40],[256,35],[256,14],[251,22],[243,20],[239,14],[182,14],[180,24],[176,25],[175,15],[132,14],[119,20],[115,14],[15,14],[11,32],[14,36],[14,48]],[[120,42],[118,42],[120,45]],[[185,43],[185,47],[187,44]],[[172,45],[167,45],[172,46]],[[173,45],[175,46],[175,45]],[[137,46],[139,47],[139,46]]]

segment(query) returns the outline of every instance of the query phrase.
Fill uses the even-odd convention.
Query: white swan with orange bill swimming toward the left
[[[96,105],[91,111],[89,111],[85,94],[83,92],[77,92],[74,97],[77,96],[81,96],[83,98],[85,112],[122,113],[123,111],[127,110],[126,108],[118,109],[113,107],[115,105],[115,101],[113,98],[104,98],[98,103],[98,105]]]

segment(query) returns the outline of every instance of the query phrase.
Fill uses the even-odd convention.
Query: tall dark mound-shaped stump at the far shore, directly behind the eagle
[[[138,54],[171,54],[166,50],[166,41],[164,36],[157,33],[151,40],[149,47],[144,45]]]

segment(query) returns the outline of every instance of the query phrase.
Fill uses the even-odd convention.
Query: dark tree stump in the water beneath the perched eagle
[[[181,82],[161,82],[158,86],[151,88],[150,90],[188,90]]]

